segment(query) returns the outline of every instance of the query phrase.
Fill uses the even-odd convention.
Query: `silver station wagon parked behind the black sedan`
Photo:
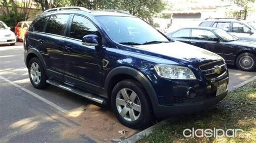
[[[221,28],[240,39],[256,41],[255,23],[246,22],[245,20],[214,18],[205,20],[199,26]]]

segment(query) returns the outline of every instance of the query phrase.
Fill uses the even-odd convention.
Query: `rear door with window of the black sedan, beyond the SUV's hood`
[[[181,42],[190,44],[190,32],[191,32],[190,29],[185,28],[185,29],[178,30],[171,34],[167,34],[167,37],[169,37],[173,40],[177,40],[177,41],[181,41]]]

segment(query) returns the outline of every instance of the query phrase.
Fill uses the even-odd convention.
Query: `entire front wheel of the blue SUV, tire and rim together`
[[[143,86],[135,80],[124,80],[114,86],[111,105],[114,115],[127,127],[143,128],[153,123],[151,103]]]

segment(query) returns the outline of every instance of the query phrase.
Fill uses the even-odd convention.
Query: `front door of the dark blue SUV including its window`
[[[99,85],[102,56],[94,46],[85,46],[85,35],[96,34],[97,27],[84,16],[73,15],[64,51],[65,81],[78,87],[93,90]]]

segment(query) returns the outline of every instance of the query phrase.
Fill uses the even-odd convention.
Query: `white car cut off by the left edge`
[[[15,45],[16,37],[14,32],[10,30],[10,27],[6,26],[3,22],[0,21],[0,45],[10,44]]]

